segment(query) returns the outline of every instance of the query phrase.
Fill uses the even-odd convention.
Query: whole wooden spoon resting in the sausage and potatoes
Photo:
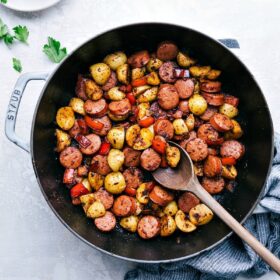
[[[193,163],[188,153],[174,142],[169,141],[169,144],[179,148],[181,152],[180,162],[176,168],[158,168],[152,173],[154,179],[166,188],[194,193],[280,275],[280,260],[266,249],[200,185],[194,174]]]

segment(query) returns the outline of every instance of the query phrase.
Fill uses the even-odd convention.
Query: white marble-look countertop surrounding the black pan
[[[12,0],[9,0],[12,1]],[[11,89],[18,78],[12,57],[23,72],[52,70],[42,53],[47,36],[72,50],[109,28],[134,22],[177,23],[214,38],[236,38],[236,53],[254,73],[280,131],[280,2],[278,0],[62,0],[37,13],[18,13],[0,7],[9,26],[27,25],[29,46],[8,49],[0,42],[0,280],[123,279],[134,264],[104,255],[74,237],[55,217],[35,179],[30,156],[4,135],[4,118]],[[31,119],[42,82],[27,88],[17,131],[29,138]],[[262,279],[276,279],[270,273]],[[243,279],[243,278],[240,278]]]

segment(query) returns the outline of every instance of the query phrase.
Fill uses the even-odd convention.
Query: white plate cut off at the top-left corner
[[[7,8],[20,12],[35,12],[47,9],[61,0],[7,0],[7,4],[2,4]]]

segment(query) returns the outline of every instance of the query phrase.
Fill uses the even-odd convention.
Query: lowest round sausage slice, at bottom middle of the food
[[[160,232],[160,222],[154,216],[144,216],[138,223],[137,232],[143,239],[153,238]]]

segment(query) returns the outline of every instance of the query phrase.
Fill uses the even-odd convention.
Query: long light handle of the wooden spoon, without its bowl
[[[265,248],[247,229],[235,220],[200,184],[193,182],[193,186],[188,185],[188,190],[200,198],[210,209],[220,217],[241,239],[243,239],[255,252],[266,261],[275,272],[280,275],[280,260]]]

